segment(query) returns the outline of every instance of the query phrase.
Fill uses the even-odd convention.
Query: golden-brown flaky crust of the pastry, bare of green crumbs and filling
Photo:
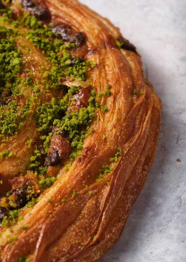
[[[161,102],[145,79],[135,47],[124,40],[126,44],[117,48],[116,41],[121,43],[124,38],[108,19],[75,0],[38,2],[47,7],[56,25],[71,25],[73,30],[85,35],[85,43],[75,52],[96,66],[87,73],[83,85],[86,88],[87,83],[92,83],[98,94],[104,93],[110,84],[111,95],[100,99],[100,106],[106,105],[108,111],[96,111],[91,122],[94,131],[83,142],[82,156],[73,161],[68,171],[64,169],[66,162],[60,166],[56,171],[58,179],[38,196],[32,209],[24,208],[20,222],[2,228],[0,261],[16,262],[20,257],[33,262],[97,261],[120,237],[153,163]],[[12,1],[15,13],[19,12],[18,4],[20,1]],[[22,40],[17,39],[18,45],[19,41]],[[47,66],[39,50],[29,45],[33,60],[38,59]],[[37,77],[40,68],[35,66],[34,70]],[[64,82],[68,86],[68,79]],[[45,97],[43,91],[43,101]],[[0,146],[1,151],[8,149],[19,155],[19,158],[0,160],[5,185],[15,174],[25,174],[29,165],[30,151],[24,145],[38,131],[32,114],[25,121],[24,126],[29,129],[20,129],[12,140]],[[120,154],[113,170],[96,182],[102,165],[108,165],[118,147]],[[73,192],[77,194],[74,196]],[[25,225],[25,230],[20,231]],[[12,239],[16,232],[19,234],[12,245],[7,235]]]

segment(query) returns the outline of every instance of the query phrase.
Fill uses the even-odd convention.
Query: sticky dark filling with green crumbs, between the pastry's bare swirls
[[[47,61],[53,66],[52,72],[45,71],[43,74],[45,75],[43,83],[48,89],[47,95],[53,98],[50,102],[38,106],[35,111],[34,118],[40,136],[36,141],[33,139],[26,141],[25,147],[33,151],[27,174],[16,174],[15,178],[9,180],[9,191],[2,195],[1,201],[3,201],[0,207],[2,226],[16,222],[14,220],[20,215],[22,208],[33,206],[39,194],[55,182],[57,170],[60,168],[55,165],[62,165],[68,159],[74,160],[81,156],[83,140],[93,131],[91,128],[89,130],[89,125],[95,117],[96,107],[96,93],[95,90],[91,93],[92,88],[67,87],[61,84],[66,78],[86,80],[86,72],[94,68],[93,62],[89,63],[82,58],[72,57],[68,52],[85,42],[84,34],[76,32],[69,25],[58,25],[52,27],[53,35],[50,32],[51,25],[44,26],[36,19],[44,20],[49,17],[47,7],[43,4],[36,6],[34,2],[28,0],[21,0],[21,4],[29,15],[26,15],[24,22],[18,19],[18,23],[21,28],[25,25],[32,29],[26,34],[29,37],[28,40],[41,52],[44,51]],[[35,108],[35,98],[39,97],[40,90],[32,79],[31,70],[26,68],[28,77],[21,77],[24,66],[23,54],[16,46],[16,41],[11,41],[14,39],[12,36],[19,32],[16,29],[11,31],[4,26],[1,29],[0,40],[3,37],[2,44],[4,45],[2,61],[4,62],[6,58],[1,71],[6,77],[2,75],[0,79],[0,110],[3,113],[0,114],[0,131],[2,130],[0,138],[4,139],[7,136],[9,139],[23,126],[33,105]],[[27,49],[29,52],[29,48]],[[23,93],[22,89],[20,92],[20,83],[30,90],[30,96],[26,100],[24,99],[25,89],[23,88]],[[35,150],[34,143],[37,146]],[[0,157],[6,159],[17,157],[14,152],[8,150],[0,153]]]

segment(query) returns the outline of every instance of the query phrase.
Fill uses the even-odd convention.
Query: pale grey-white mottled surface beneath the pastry
[[[137,47],[163,109],[157,154],[145,186],[122,237],[101,262],[185,262],[186,1],[81,2],[108,17]]]

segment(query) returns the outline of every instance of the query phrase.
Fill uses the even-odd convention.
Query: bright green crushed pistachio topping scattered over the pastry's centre
[[[65,160],[63,162],[63,156],[60,158],[58,152],[52,151],[53,137],[60,136],[69,143],[70,164],[64,167],[66,172],[72,165],[71,161],[81,156],[85,138],[94,132],[91,124],[97,111],[108,111],[106,105],[100,105],[100,99],[103,95],[111,95],[111,86],[108,84],[104,93],[96,94],[93,84],[90,84],[86,106],[77,109],[76,99],[83,88],[73,84],[66,86],[64,83],[75,79],[79,83],[86,81],[87,73],[95,67],[94,62],[73,57],[77,44],[59,39],[52,31],[52,23],[43,25],[27,12],[14,20],[13,12],[8,8],[2,9],[1,14],[0,143],[6,145],[16,138],[28,128],[28,122],[37,133],[36,137],[32,134],[24,141],[24,150],[30,155],[26,172],[16,177],[19,186],[9,189],[4,193],[3,201],[1,199],[0,208],[4,215],[0,222],[3,227],[8,227],[24,219],[24,208],[32,209],[38,202],[39,194],[57,180],[57,171],[48,174],[49,167],[63,165]],[[41,60],[45,63],[34,60],[31,55],[33,50],[41,54]],[[15,157],[18,156],[13,151],[0,152],[0,160]],[[47,157],[51,157],[48,162]],[[109,165],[103,165],[100,176],[109,174],[111,170]],[[27,180],[27,174],[28,177],[32,176],[33,183],[28,183],[30,178]],[[3,183],[1,181],[0,184]],[[73,190],[72,197],[77,194]],[[92,192],[89,191],[89,194]],[[62,203],[65,201],[61,200]],[[52,199],[48,199],[48,202],[51,204]],[[27,227],[24,225],[20,229],[26,230]],[[26,257],[19,259],[21,262],[25,260]]]

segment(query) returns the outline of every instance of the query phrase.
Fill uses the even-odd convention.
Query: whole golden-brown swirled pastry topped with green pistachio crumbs
[[[153,163],[161,102],[136,48],[80,2],[0,8],[0,261],[97,261]]]

